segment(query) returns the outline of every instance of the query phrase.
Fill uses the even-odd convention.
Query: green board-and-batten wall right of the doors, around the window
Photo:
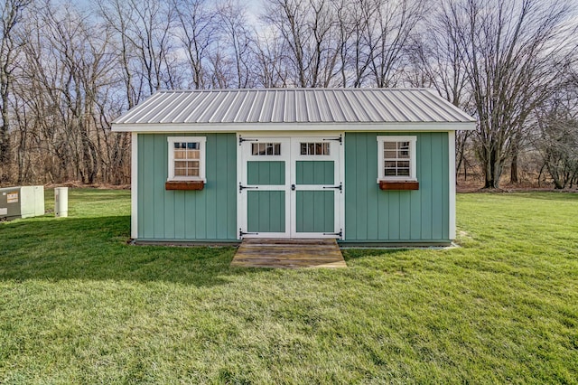
[[[387,135],[417,136],[419,190],[379,189],[377,136]],[[447,132],[346,133],[343,242],[449,242],[448,147]]]

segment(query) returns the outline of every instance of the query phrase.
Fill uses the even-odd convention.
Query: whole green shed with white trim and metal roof
[[[475,120],[428,89],[159,91],[132,133],[140,242],[455,238],[455,131]]]

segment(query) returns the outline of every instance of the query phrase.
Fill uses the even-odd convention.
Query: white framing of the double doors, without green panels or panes
[[[327,159],[323,156],[311,156],[307,158],[301,157],[299,153],[299,140],[312,141],[313,139],[331,139],[331,152],[337,150],[337,156],[331,156]],[[279,156],[253,156],[250,155],[250,144],[255,140],[259,142],[276,141],[285,143],[285,140],[290,146],[289,152],[282,151]],[[281,233],[247,233],[247,190],[239,191],[237,201],[237,227],[238,239],[243,238],[337,238],[345,239],[345,133],[342,131],[305,131],[305,132],[243,132],[237,134],[237,186],[247,185],[247,161],[284,161],[285,162],[285,185],[281,188],[278,185],[263,186],[259,185],[260,191],[274,190],[285,191],[285,232]],[[282,145],[283,146],[283,145]],[[283,148],[283,147],[282,147]],[[333,160],[335,162],[335,178],[336,185],[341,183],[341,191],[335,194],[335,230],[340,235],[323,235],[320,233],[296,233],[295,221],[295,203],[296,193],[291,190],[292,184],[296,182],[295,164],[297,160]],[[252,187],[252,186],[249,186]],[[316,188],[319,188],[318,186]],[[316,189],[313,187],[312,189]],[[300,190],[309,189],[302,185]]]

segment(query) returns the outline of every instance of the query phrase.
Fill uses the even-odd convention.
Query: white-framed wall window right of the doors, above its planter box
[[[378,136],[378,183],[415,181],[417,136]]]

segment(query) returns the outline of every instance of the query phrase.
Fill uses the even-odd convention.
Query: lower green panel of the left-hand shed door
[[[247,231],[285,231],[285,192],[247,192]]]

